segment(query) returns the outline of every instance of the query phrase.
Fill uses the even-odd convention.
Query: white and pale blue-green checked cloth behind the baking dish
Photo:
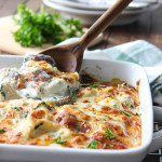
[[[64,43],[77,39],[68,39]],[[124,60],[143,66],[150,81],[153,103],[162,106],[162,51],[156,45],[144,40],[137,40],[105,50],[86,50],[84,58]]]

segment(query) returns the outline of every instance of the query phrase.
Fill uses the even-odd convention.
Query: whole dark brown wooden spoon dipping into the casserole
[[[60,71],[79,71],[83,60],[83,52],[89,43],[95,39],[108,25],[129,5],[132,0],[118,0],[108,9],[90,29],[73,43],[56,45],[41,51],[39,54],[50,55],[54,58]]]

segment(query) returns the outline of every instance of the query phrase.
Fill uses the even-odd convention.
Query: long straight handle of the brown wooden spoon
[[[108,9],[81,37],[79,40],[81,46],[85,49],[89,43],[104,31],[132,1],[133,0],[118,0],[110,9]]]

